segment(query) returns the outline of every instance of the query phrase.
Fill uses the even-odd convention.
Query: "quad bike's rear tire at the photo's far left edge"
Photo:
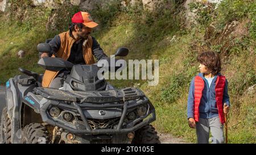
[[[7,114],[7,107],[3,108],[0,124],[0,143],[11,143],[11,119]]]

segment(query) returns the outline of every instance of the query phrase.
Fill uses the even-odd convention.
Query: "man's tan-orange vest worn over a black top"
[[[60,49],[56,52],[57,57],[61,57],[64,60],[68,60],[68,57],[71,53],[71,47],[73,43],[75,43],[75,39],[69,35],[69,31],[63,32],[59,34],[60,36]],[[87,65],[94,64],[94,57],[92,53],[92,36],[88,36],[88,39],[84,41],[82,45],[82,53],[84,55],[84,60]],[[55,57],[52,55],[52,57]],[[58,72],[53,72],[51,70],[46,70],[44,72],[44,77],[42,81],[43,87],[49,87],[49,84],[52,82],[52,80],[57,76]]]

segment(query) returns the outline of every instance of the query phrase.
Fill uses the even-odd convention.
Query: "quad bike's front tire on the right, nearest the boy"
[[[147,124],[141,129],[135,131],[135,137],[132,141],[133,144],[160,144],[159,136],[155,128]]]

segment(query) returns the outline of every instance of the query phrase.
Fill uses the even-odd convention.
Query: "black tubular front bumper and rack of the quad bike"
[[[36,92],[36,94],[40,94],[43,97],[46,97],[46,98],[50,99],[50,100],[47,101],[46,104],[43,104],[43,106],[40,107],[40,113],[42,115],[43,122],[46,122],[46,123],[51,124],[53,126],[63,128],[63,129],[65,129],[69,132],[72,132],[72,133],[79,133],[79,134],[128,133],[128,132],[136,131],[137,129],[143,127],[144,125],[150,124],[151,122],[154,122],[156,120],[154,106],[152,105],[150,100],[148,100],[144,96],[143,93],[138,95],[138,93],[139,93],[138,89],[128,88],[129,91],[135,90],[135,93],[133,93],[133,94],[128,93],[127,97],[125,96],[126,95],[125,93],[120,93],[116,90],[113,90],[113,91],[116,91],[115,93],[117,93],[117,94],[115,96],[110,96],[110,97],[114,97],[114,98],[108,99],[108,101],[112,101],[112,103],[110,102],[111,104],[110,103],[105,104],[106,102],[97,103],[97,104],[95,104],[95,103],[91,104],[89,102],[85,102],[85,100],[86,101],[90,100],[90,99],[88,99],[89,95],[87,96],[87,98],[77,99],[77,97],[76,97],[76,101],[75,101],[75,99],[72,99],[72,96],[69,97],[69,98],[62,99],[62,100],[68,99],[69,101],[72,100],[71,104],[66,104],[63,101],[58,102],[57,100],[53,100],[53,98],[52,98],[53,95],[48,94],[49,92],[46,94],[46,92],[43,91],[43,90],[47,90],[47,89],[36,88],[34,90]],[[125,90],[125,89],[123,89],[123,90]],[[123,91],[123,90],[121,90],[121,91]],[[60,91],[63,91],[63,90],[60,90]],[[68,93],[70,93],[70,92],[71,91],[69,91]],[[108,91],[97,91],[97,93],[105,93],[105,95],[108,94],[106,92],[108,92]],[[65,93],[67,93],[67,92],[65,92]],[[77,92],[75,92],[75,93],[77,93]],[[71,95],[73,95],[73,97],[74,97],[74,96],[76,96],[75,93],[72,92]],[[94,95],[94,98],[95,97],[97,98],[97,95]],[[131,98],[143,98],[143,100],[140,100],[139,102],[136,102],[136,100],[135,100],[131,104],[130,102],[128,102],[128,100],[125,100],[127,98],[129,98],[129,99],[131,99]],[[114,100],[118,101],[118,102],[113,103]],[[124,120],[126,118],[127,111],[129,111],[130,109],[133,109],[135,107],[141,106],[142,104],[147,104],[148,105],[146,115],[135,119],[133,122],[130,122],[129,124],[127,124],[126,128],[123,128],[122,125],[123,125]],[[64,123],[57,122],[57,121],[53,120],[51,118],[51,116],[49,115],[49,113],[48,113],[48,108],[51,105],[59,107],[59,108],[64,109],[64,110],[72,110],[72,111],[75,111],[76,113],[78,113],[81,116],[83,127],[80,128],[80,129],[72,128],[72,127],[68,126],[67,124],[64,124]],[[88,120],[87,120],[87,118],[84,114],[84,111],[83,111],[86,108],[89,108],[89,109],[93,108],[93,109],[97,109],[97,110],[106,110],[107,108],[122,108],[122,114],[121,114],[121,118],[118,122],[117,128],[114,128],[114,129],[92,129],[90,127],[90,125],[88,123]],[[150,114],[152,114],[152,116],[150,116]],[[147,118],[148,116],[150,116],[150,117]],[[146,119],[146,120],[143,120],[143,119]]]

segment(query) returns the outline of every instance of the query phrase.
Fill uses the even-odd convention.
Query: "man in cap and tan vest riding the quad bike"
[[[49,45],[52,48],[51,54],[40,53],[40,57],[49,57],[53,52],[57,57],[70,61],[73,64],[94,64],[94,57],[97,60],[107,59],[104,51],[101,49],[97,40],[90,36],[92,28],[98,24],[93,22],[88,12],[77,12],[72,17],[72,24],[69,31],[56,35]],[[52,57],[55,57],[54,55]],[[46,70],[44,73],[42,86],[60,88],[63,84],[63,78],[67,76],[67,70],[53,72]]]

